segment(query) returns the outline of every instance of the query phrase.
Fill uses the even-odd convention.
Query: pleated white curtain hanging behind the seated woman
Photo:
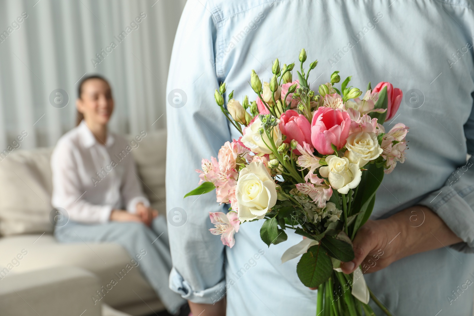
[[[166,78],[184,3],[0,1],[0,152],[22,131],[22,148],[53,146],[73,128],[77,85],[91,74],[112,86],[111,130],[165,128]],[[62,104],[50,101],[57,89],[69,98],[63,108],[65,95]]]

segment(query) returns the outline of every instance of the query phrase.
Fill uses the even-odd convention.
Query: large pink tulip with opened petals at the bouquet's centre
[[[311,143],[323,155],[334,153],[331,144],[340,150],[349,136],[351,118],[345,111],[319,107],[311,121]]]

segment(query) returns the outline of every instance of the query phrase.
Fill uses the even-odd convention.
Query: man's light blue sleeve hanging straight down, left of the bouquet
[[[209,3],[204,5],[186,3],[173,45],[166,90],[166,208],[173,259],[170,287],[192,302],[212,304],[211,296],[225,285],[225,251],[219,237],[209,232],[209,212],[222,211],[224,205],[219,206],[213,192],[183,198],[198,186],[195,169],[201,169],[202,158],[216,157],[230,138],[213,96],[223,81],[214,67],[220,22]]]

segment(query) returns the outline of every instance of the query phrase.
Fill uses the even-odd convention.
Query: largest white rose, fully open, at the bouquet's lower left
[[[276,184],[264,163],[252,162],[239,173],[236,199],[241,222],[262,219],[276,203]]]

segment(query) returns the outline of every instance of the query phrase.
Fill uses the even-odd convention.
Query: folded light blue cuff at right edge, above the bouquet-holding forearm
[[[464,243],[451,245],[457,251],[474,253],[474,186],[456,191],[445,186],[437,190],[418,204],[435,212]]]

